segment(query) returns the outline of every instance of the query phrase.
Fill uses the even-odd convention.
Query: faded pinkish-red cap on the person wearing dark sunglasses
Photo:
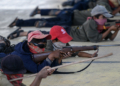
[[[43,34],[39,30],[37,30],[37,31],[30,32],[28,34],[28,42],[30,42],[33,38],[35,38],[35,39],[43,39],[43,38],[51,39],[51,35]]]

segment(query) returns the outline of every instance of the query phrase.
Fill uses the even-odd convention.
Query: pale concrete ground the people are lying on
[[[65,0],[1,0],[0,1],[0,35],[7,37],[9,33],[14,31],[17,27],[9,28],[7,27],[14,18],[29,19],[30,12],[36,7],[40,8],[62,8],[60,5]],[[40,18],[40,15],[36,15],[33,18]],[[120,19],[120,17],[116,17]],[[25,31],[29,30],[47,30],[50,28],[35,28],[35,27],[23,27]],[[19,37],[10,40],[12,44],[16,44],[26,37]],[[120,43],[120,33],[117,35],[114,41],[103,41],[100,43],[91,42],[70,42],[74,46],[83,45],[109,45],[109,44],[119,44]],[[46,79],[42,80],[41,86],[119,86],[120,84],[120,47],[100,47],[98,56],[102,56],[108,53],[113,53],[112,56],[107,58],[102,58],[95,60],[89,68],[85,71],[75,74],[60,74],[51,75]],[[94,51],[86,51],[88,53],[93,53]],[[64,59],[63,62],[74,62],[78,60],[83,60],[86,58],[82,57],[71,57]],[[77,71],[84,68],[89,62],[84,62],[72,66],[67,66],[58,69],[59,71]],[[29,74],[25,74],[27,76]],[[23,83],[29,86],[35,77],[26,78]],[[3,74],[0,74],[0,86],[11,86],[6,80]]]

